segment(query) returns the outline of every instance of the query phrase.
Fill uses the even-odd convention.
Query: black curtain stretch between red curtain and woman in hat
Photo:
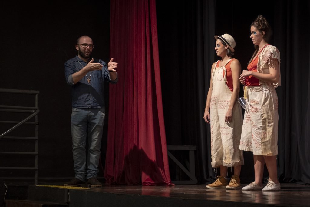
[[[195,173],[199,183],[206,183],[214,175],[210,125],[203,113],[214,62],[215,1],[157,1],[157,8],[167,142],[197,146]],[[184,165],[186,153],[175,152]],[[170,166],[172,179],[188,179]]]

